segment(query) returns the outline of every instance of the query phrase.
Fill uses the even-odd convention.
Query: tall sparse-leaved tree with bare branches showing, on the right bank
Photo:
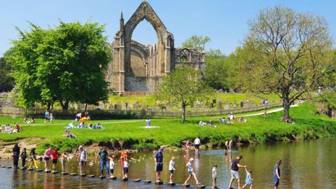
[[[321,17],[281,6],[261,10],[248,25],[248,56],[240,65],[244,87],[279,94],[288,120],[290,105],[328,85],[325,77],[335,72],[328,25]]]

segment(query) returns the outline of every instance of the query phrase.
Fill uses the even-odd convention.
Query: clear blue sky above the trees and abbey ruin
[[[248,32],[247,21],[255,18],[259,10],[282,5],[299,12],[321,15],[336,36],[336,1],[317,0],[148,0],[167,29],[174,34],[175,46],[192,35],[210,36],[210,48],[221,49],[225,54],[234,51]],[[10,40],[18,38],[15,26],[29,29],[27,21],[43,28],[64,22],[99,22],[106,25],[109,41],[118,31],[120,11],[125,22],[137,9],[141,0],[31,0],[0,1],[0,56],[10,48]],[[133,39],[144,44],[157,41],[151,25],[144,20],[134,29]]]

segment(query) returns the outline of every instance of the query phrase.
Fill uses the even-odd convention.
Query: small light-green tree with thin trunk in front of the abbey
[[[213,89],[202,80],[200,70],[190,66],[178,66],[172,73],[163,78],[155,94],[156,99],[170,104],[181,104],[182,123],[186,120],[186,106],[197,99],[207,99]]]

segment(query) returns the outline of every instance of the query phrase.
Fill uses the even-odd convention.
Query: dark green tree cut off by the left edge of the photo
[[[9,76],[11,67],[7,64],[6,59],[0,57],[0,92],[8,92],[15,85],[14,78]]]

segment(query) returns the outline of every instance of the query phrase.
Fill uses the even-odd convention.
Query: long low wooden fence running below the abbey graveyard
[[[267,109],[282,106],[281,103],[268,104]],[[196,116],[218,116],[227,115],[228,113],[243,113],[249,111],[261,111],[265,106],[249,106],[237,109],[223,109],[221,111],[186,111],[186,117]],[[74,118],[78,110],[52,110],[53,116],[58,119]],[[45,109],[20,109],[20,108],[0,108],[2,116],[34,116],[35,118],[43,118]],[[151,110],[90,110],[90,115],[94,119],[113,119],[113,118],[178,118],[181,116],[181,111],[151,111]]]

